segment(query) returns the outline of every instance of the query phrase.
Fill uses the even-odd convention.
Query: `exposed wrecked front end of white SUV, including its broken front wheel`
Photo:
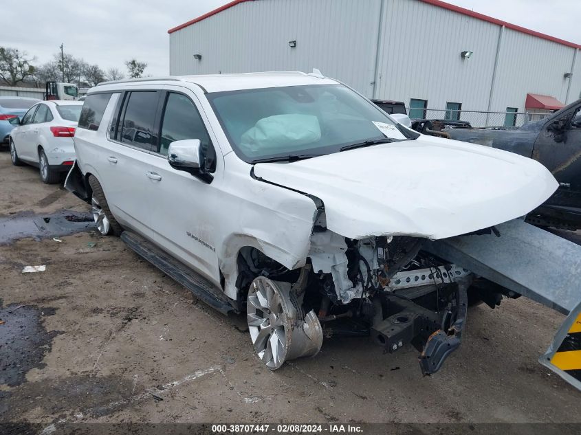
[[[410,236],[353,240],[320,228],[307,264],[292,271],[243,248],[237,287],[248,289],[240,302],[259,357],[279,368],[291,356],[316,355],[323,337],[369,336],[388,353],[412,344],[424,375],[439,370],[460,344],[468,289],[473,299],[479,289],[496,294],[487,301],[491,306],[509,293],[422,250],[425,242]]]

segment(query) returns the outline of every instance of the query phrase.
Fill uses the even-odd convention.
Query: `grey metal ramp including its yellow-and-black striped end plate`
[[[581,390],[581,246],[514,219],[424,249],[567,315],[539,361]]]

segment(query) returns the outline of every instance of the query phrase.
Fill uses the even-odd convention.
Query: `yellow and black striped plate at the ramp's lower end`
[[[581,390],[581,304],[569,313],[539,361]]]

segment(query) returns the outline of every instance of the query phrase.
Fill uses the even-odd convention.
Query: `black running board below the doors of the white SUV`
[[[228,315],[237,313],[234,301],[230,301],[223,292],[212,283],[197,274],[190,267],[176,260],[153,243],[146,241],[142,236],[134,232],[124,231],[121,234],[124,241],[136,254],[142,256],[152,265],[160,269],[164,274],[171,276],[195,295],[196,298],[206,302],[213,309]]]

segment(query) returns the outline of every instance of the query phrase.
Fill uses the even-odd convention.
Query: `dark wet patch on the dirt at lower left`
[[[47,332],[42,317],[54,312],[34,305],[0,306],[0,385],[17,386],[32,368],[45,366],[45,353],[59,331]]]

